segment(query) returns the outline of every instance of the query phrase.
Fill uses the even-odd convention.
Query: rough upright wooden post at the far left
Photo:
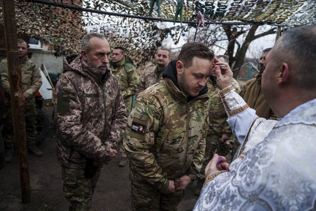
[[[24,103],[20,59],[17,47],[17,31],[15,19],[14,2],[12,0],[1,0],[5,46],[7,50],[8,74],[10,83],[11,108],[13,115],[13,128],[15,146],[19,154],[20,181],[22,202],[31,201],[30,178],[28,174],[27,145],[24,118]]]

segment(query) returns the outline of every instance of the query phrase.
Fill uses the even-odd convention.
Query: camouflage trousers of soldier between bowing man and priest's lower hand
[[[210,162],[210,160],[213,158],[217,144],[220,142],[221,138],[222,138],[221,136],[218,136],[216,134],[210,134],[210,135],[207,135],[205,137],[206,146],[205,146],[205,154],[204,154],[204,158],[203,158],[203,165],[202,165],[202,168],[200,170],[200,173],[197,175],[197,179],[199,179],[200,181],[204,182],[204,180],[205,180],[205,175],[204,175],[205,167]]]

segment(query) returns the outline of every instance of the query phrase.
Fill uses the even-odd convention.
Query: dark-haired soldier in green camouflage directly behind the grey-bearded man
[[[127,115],[131,113],[133,95],[136,93],[136,86],[139,83],[137,70],[133,64],[131,57],[125,54],[125,49],[115,47],[112,51],[112,61],[110,61],[112,74],[119,80],[123,100],[126,107]],[[119,151],[121,160],[119,166],[126,166],[128,160],[126,158],[125,149],[123,147],[123,139],[119,143]]]

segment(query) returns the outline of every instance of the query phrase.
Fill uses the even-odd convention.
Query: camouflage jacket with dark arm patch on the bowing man
[[[207,86],[195,98],[179,90],[175,64],[164,71],[164,80],[136,99],[124,134],[132,182],[166,189],[169,179],[185,173],[197,175],[202,167],[208,125]]]

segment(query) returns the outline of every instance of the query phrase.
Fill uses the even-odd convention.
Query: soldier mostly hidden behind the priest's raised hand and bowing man
[[[218,60],[228,63],[228,58],[224,55],[219,55],[216,57]],[[232,85],[237,90],[240,91],[240,86],[236,79],[233,78]],[[228,119],[223,106],[221,97],[218,92],[221,91],[216,84],[216,73],[212,71],[212,75],[207,80],[207,86],[209,88],[209,105],[210,105],[210,118],[209,118],[209,127],[206,136],[206,148],[205,155],[203,158],[203,165],[200,170],[200,173],[197,175],[197,186],[194,189],[195,195],[200,195],[203,183],[205,181],[204,170],[210,160],[213,158],[214,153],[225,156],[228,153],[228,149],[220,149],[221,151],[216,151],[219,148],[218,146],[225,146],[224,143],[229,140],[232,135],[232,129],[226,122]],[[223,147],[221,147],[223,148]],[[227,145],[228,148],[228,145]]]

